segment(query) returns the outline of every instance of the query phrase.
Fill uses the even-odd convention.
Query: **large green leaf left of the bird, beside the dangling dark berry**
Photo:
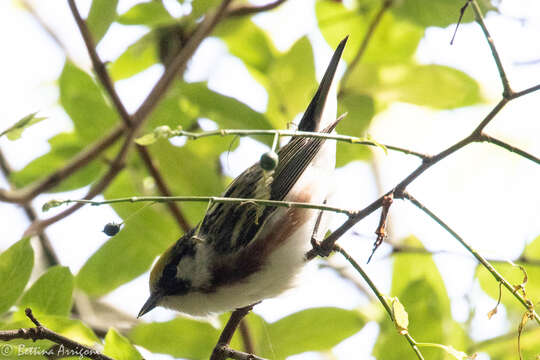
[[[139,186],[142,177],[124,171],[104,195],[106,199],[137,196],[141,194]],[[178,227],[165,215],[162,205],[116,204],[113,208],[129,220],[86,261],[76,276],[77,287],[91,296],[104,295],[144,273],[179,236]]]

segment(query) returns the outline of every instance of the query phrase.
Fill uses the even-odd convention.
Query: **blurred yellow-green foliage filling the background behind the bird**
[[[219,1],[179,0],[178,3],[187,9],[180,17],[171,14],[161,1],[139,2],[121,14],[117,13],[117,0],[91,2],[87,25],[96,44],[107,36],[112,27],[139,26],[146,29],[144,35],[125,44],[122,53],[107,64],[113,81],[131,81],[130,84],[137,86],[136,75],[152,66],[167,66],[189,39],[201,17]],[[348,116],[338,127],[340,133],[365,135],[374,116],[394,102],[433,109],[455,109],[483,101],[480,87],[471,76],[447,66],[422,65],[415,60],[426,27],[455,24],[463,3],[454,0],[393,3],[382,16],[360,61],[352,71],[346,70],[346,80],[340,89],[339,113],[347,112]],[[333,48],[344,36],[350,36],[344,52],[347,65],[350,66],[356,57],[381,4],[379,0],[316,2],[317,25],[328,45]],[[488,0],[480,1],[480,5],[483,11],[494,9]],[[468,11],[464,22],[472,20]],[[201,119],[209,119],[219,128],[286,128],[305,109],[317,88],[314,54],[308,37],[297,39],[286,50],[278,50],[270,35],[250,16],[224,19],[212,36],[219,39],[230,55],[240,60],[253,79],[266,90],[268,101],[265,111],[258,112],[236,98],[215,91],[206,81],[188,83],[178,78],[151,113],[141,133],[151,133],[163,125],[196,131],[200,128]],[[326,60],[322,61],[326,63]],[[234,82],[231,83],[233,86],[236,86]],[[60,105],[72,120],[73,130],[51,137],[47,153],[36,154],[36,158],[24,168],[12,173],[10,180],[17,188],[31,186],[61,169],[120,124],[117,112],[93,74],[66,61],[58,87]],[[35,114],[28,115],[2,135],[6,134],[11,139],[24,136],[22,131],[38,120],[41,118]],[[267,145],[272,140],[270,137],[254,139]],[[234,150],[236,145],[233,138],[213,137],[185,144],[157,140],[147,149],[173,194],[218,195],[227,183],[222,173],[221,156]],[[118,144],[111,146],[50,192],[95,184],[108,169],[118,149]],[[338,144],[338,167],[370,158],[371,150],[365,146]],[[143,161],[132,151],[125,167],[103,196],[112,199],[142,195],[158,195],[158,192]],[[182,204],[180,208],[187,221],[195,225],[206,206],[190,203]],[[15,243],[0,255],[0,282],[9,283],[0,294],[0,314],[4,314],[0,318],[0,327],[31,327],[24,315],[24,308],[31,307],[48,328],[83,344],[98,345],[115,359],[139,359],[141,355],[134,345],[180,358],[208,358],[221,329],[206,322],[177,317],[167,322],[138,323],[127,333],[110,329],[101,340],[81,321],[69,319],[74,288],[93,298],[109,294],[148,271],[156,256],[181,235],[173,217],[161,204],[115,204],[112,208],[125,224],[97,251],[87,254],[85,264],[75,276],[68,268],[56,266],[46,270],[28,286],[34,260],[28,239]],[[408,246],[421,247],[420,241],[414,237],[404,242]],[[530,243],[521,256],[525,260],[538,258],[540,237]],[[475,347],[468,335],[470,329],[467,324],[457,323],[452,318],[450,299],[431,256],[397,254],[392,266],[390,295],[403,305],[401,313],[406,311],[408,314],[408,330],[417,341],[448,345],[462,351],[473,348],[488,353],[491,359],[516,358],[515,334],[479,343]],[[512,284],[523,283],[524,274],[519,268],[506,263],[495,267]],[[540,268],[532,265],[524,265],[524,268],[528,275],[526,296],[538,301]],[[492,276],[482,267],[478,268],[477,276],[482,289],[497,299],[498,284]],[[142,295],[140,300],[143,300]],[[382,317],[380,304],[373,303],[373,306],[377,310],[362,313],[338,308],[307,309],[272,323],[252,313],[246,318],[246,323],[258,355],[285,359],[309,351],[330,354],[333,347],[358,333],[367,321],[376,319],[380,331],[373,356],[379,359],[413,358],[410,346],[394,324],[386,314]],[[508,309],[509,318],[518,324],[523,307],[506,291],[503,291],[501,306]],[[222,323],[227,316],[220,317]],[[525,358],[532,359],[540,353],[539,337],[537,328],[526,328],[521,337]],[[27,344],[44,350],[52,345],[48,341],[15,341],[11,344]],[[242,348],[238,334],[235,334],[232,346]],[[441,349],[422,348],[422,352],[426,359],[451,358]],[[36,356],[20,358],[36,359]]]

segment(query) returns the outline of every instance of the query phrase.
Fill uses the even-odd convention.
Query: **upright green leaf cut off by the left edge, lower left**
[[[5,313],[17,301],[24,290],[32,267],[34,251],[30,239],[24,238],[0,254],[0,283],[4,286],[0,294],[0,314]]]

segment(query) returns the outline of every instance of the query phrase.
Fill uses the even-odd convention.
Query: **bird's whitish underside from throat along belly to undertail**
[[[331,188],[331,177],[335,166],[335,142],[327,141],[317,157],[308,166],[285,200],[299,201],[302,193],[309,189],[309,201],[322,203]],[[304,194],[305,195],[305,194]],[[265,231],[271,231],[290,209],[278,208],[265,224]],[[268,258],[255,273],[240,281],[219,286],[211,292],[192,291],[186,295],[167,296],[160,305],[193,316],[206,316],[254,304],[263,299],[278,296],[294,285],[294,280],[305,264],[305,253],[311,248],[311,236],[318,210],[307,211],[308,217],[287,241],[268,254]],[[323,222],[324,223],[324,222]],[[326,232],[321,224],[319,234]],[[263,235],[264,238],[264,235]],[[198,252],[198,256],[207,256]],[[196,262],[198,259],[195,259]]]

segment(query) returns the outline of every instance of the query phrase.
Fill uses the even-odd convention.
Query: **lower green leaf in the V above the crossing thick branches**
[[[127,79],[159,62],[157,38],[154,31],[131,44],[110,66],[114,81]]]

